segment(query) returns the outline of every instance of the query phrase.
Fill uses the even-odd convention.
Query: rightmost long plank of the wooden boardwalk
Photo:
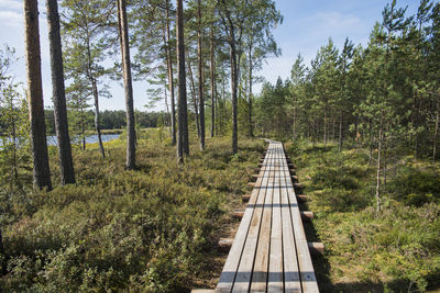
[[[294,236],[298,256],[298,267],[300,271],[300,282],[302,292],[319,292],[318,283],[315,275],[314,264],[311,262],[310,251],[307,244],[306,233],[304,230],[301,215],[298,209],[298,202],[295,194],[295,189],[290,179],[287,164],[284,171],[286,181],[286,192],[290,206],[292,225],[294,227]]]

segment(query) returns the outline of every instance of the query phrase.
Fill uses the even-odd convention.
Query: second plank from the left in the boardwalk
[[[271,146],[270,146],[271,148]],[[273,151],[270,153],[268,168],[273,169]],[[266,198],[268,177],[271,172],[265,173],[265,184],[261,187],[261,194],[256,201],[256,205],[254,207],[254,213],[252,216],[251,226],[249,228],[246,241],[244,245],[244,250],[242,258],[240,260],[240,266],[237,271],[235,281],[233,284],[232,292],[248,292],[250,289],[250,283],[252,280],[252,269],[254,264],[254,258],[256,252],[256,246],[258,240],[258,233],[262,222],[263,215],[263,204]]]

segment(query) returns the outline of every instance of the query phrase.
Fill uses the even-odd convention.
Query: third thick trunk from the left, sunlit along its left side
[[[127,112],[127,160],[125,168],[133,170],[136,167],[136,131],[134,128],[133,84],[131,78],[129,25],[127,21],[125,0],[118,0],[118,20],[121,38],[122,70],[125,92]]]

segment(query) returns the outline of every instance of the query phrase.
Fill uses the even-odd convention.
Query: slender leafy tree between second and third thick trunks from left
[[[109,36],[113,33],[111,27],[116,22],[114,4],[114,0],[62,1],[66,75],[69,79],[87,80],[87,92],[95,102],[95,129],[102,158],[106,153],[101,138],[99,99],[110,97],[108,87],[101,83],[102,77],[109,74],[103,61],[106,52],[113,45]]]

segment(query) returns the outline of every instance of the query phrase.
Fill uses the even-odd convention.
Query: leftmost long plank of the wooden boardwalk
[[[268,155],[265,158],[264,161],[265,165],[268,165],[270,157],[271,157],[271,151],[268,151]],[[267,184],[268,171],[270,171],[268,168],[266,168],[265,166],[262,167],[260,172],[263,176],[256,180],[256,185],[261,187]],[[253,206],[258,201],[258,198],[263,196],[265,190],[262,190],[261,188],[254,188],[254,190],[252,191],[251,199],[248,203],[248,207],[244,212],[243,218],[241,219],[239,229],[235,234],[234,241],[229,251],[223,270],[220,274],[220,280],[217,284],[217,290],[230,292],[233,286],[233,282],[237,275],[237,270],[239,268],[241,256],[243,252],[243,248],[246,243],[251,219],[253,218],[254,214]]]

